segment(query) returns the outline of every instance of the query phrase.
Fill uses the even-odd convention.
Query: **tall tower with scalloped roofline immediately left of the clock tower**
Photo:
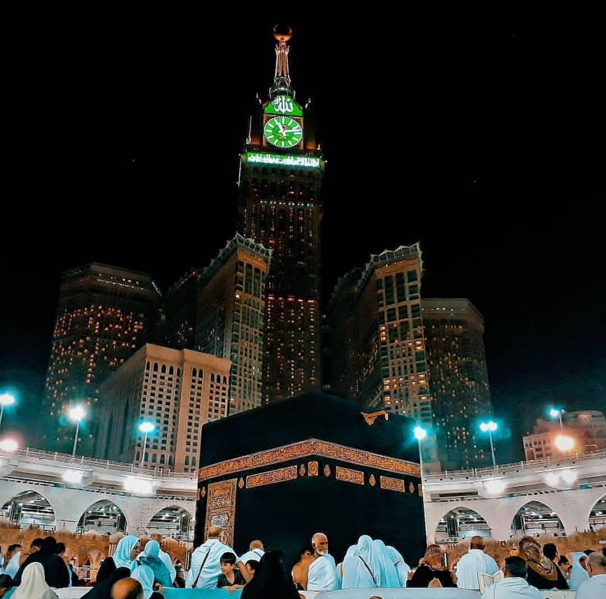
[[[199,278],[195,348],[231,361],[229,413],[262,405],[271,250],[236,234]]]

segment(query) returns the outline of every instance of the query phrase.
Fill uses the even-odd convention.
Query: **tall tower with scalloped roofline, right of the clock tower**
[[[416,243],[373,255],[339,281],[329,306],[332,389],[430,427],[421,274]]]

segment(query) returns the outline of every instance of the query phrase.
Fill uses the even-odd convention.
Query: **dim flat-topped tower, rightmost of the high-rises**
[[[422,299],[433,424],[442,469],[490,463],[482,419],[492,405],[484,320],[467,299]]]

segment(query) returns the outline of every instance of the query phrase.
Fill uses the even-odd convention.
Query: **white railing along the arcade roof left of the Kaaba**
[[[34,449],[24,447],[8,454],[24,462],[39,462],[48,460],[50,462],[60,463],[74,468],[102,468],[105,470],[116,470],[118,472],[128,472],[130,474],[144,475],[153,478],[179,478],[196,480],[196,474],[185,472],[173,472],[170,468],[150,468],[149,466],[140,466],[138,464],[125,462],[112,462],[112,460],[99,460],[98,458],[84,457],[84,455],[72,457],[70,454],[62,454],[57,451],[44,451],[43,449]]]

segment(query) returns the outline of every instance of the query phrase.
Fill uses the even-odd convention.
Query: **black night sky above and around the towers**
[[[0,385],[20,405],[2,428],[29,442],[61,271],[97,260],[166,288],[207,264],[273,78],[274,21],[97,17],[24,27],[7,75]],[[603,34],[590,15],[367,17],[291,23],[328,159],[324,300],[420,240],[422,295],[484,314],[497,451],[519,458],[548,404],[606,409]]]

